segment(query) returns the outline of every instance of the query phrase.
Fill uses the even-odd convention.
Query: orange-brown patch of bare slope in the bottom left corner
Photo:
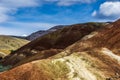
[[[9,77],[9,76],[10,77]],[[0,80],[45,80],[45,76],[30,63],[0,74]],[[43,77],[43,78],[42,78]]]

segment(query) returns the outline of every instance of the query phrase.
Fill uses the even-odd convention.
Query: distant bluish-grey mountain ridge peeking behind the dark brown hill
[[[34,32],[31,35],[27,36],[26,39],[32,41],[32,40],[37,39],[38,37],[41,37],[41,36],[43,36],[45,34],[56,31],[56,30],[61,29],[63,27],[65,27],[65,26],[64,25],[58,25],[58,26],[54,26],[54,27],[52,27],[52,28],[50,28],[48,30],[39,30],[39,31]]]

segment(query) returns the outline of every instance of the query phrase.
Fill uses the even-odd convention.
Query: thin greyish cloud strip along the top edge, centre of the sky
[[[70,6],[74,4],[81,4],[81,3],[92,3],[96,0],[46,0],[48,2],[56,2],[59,6]]]

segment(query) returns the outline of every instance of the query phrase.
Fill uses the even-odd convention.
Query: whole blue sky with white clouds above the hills
[[[120,18],[120,0],[0,0],[0,35]]]

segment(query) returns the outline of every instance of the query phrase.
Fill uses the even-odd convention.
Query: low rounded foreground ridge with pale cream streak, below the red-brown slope
[[[0,74],[1,80],[119,80],[120,65],[100,50],[43,59]]]

